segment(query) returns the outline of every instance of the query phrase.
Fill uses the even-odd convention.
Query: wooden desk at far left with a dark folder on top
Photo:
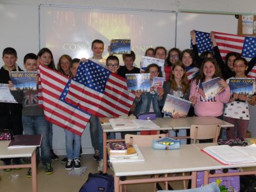
[[[32,170],[32,191],[37,191],[36,176],[36,147],[8,149],[10,141],[0,141],[0,158],[31,157],[31,164],[3,165],[0,169],[6,168],[31,168]]]

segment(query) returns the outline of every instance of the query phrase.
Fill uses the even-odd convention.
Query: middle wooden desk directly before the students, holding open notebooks
[[[189,116],[184,118],[156,118],[153,122],[159,125],[156,129],[124,129],[114,130],[111,125],[102,124],[103,129],[103,172],[107,172],[107,143],[113,140],[107,140],[108,132],[125,132],[125,131],[159,131],[173,129],[190,129],[193,124],[220,124],[221,127],[234,127],[233,124],[220,120],[212,116]],[[115,140],[121,141],[121,140]],[[124,140],[122,140],[124,141]]]

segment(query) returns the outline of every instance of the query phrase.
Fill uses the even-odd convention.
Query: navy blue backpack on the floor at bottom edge
[[[83,184],[79,192],[113,192],[114,178],[108,173],[89,173],[88,179]]]

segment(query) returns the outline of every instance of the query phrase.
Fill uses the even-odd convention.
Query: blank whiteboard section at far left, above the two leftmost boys
[[[38,7],[0,4],[0,51],[13,47],[17,51],[20,68],[28,52],[38,52]],[[1,62],[1,65],[3,62]]]

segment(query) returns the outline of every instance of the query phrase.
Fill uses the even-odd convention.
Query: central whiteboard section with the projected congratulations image
[[[92,41],[105,44],[103,57],[108,57],[108,45],[115,38],[131,39],[136,53],[136,65],[149,47],[170,49],[175,43],[175,13],[93,10],[40,6],[40,47],[48,47],[55,63],[62,54],[72,58],[92,57]],[[122,64],[122,55],[117,55]]]

